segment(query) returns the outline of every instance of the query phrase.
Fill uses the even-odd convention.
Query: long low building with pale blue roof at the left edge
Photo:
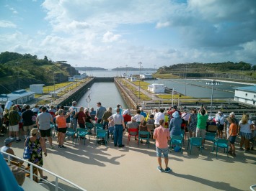
[[[7,101],[12,101],[14,104],[23,104],[27,101],[32,101],[35,98],[35,92],[26,90],[17,90],[9,94],[1,94],[1,103],[6,103]]]

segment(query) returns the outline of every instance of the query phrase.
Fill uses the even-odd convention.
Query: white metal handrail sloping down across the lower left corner
[[[0,151],[0,152],[1,152],[1,151]],[[27,164],[30,164],[32,167],[36,167],[36,168],[38,168],[38,169],[42,169],[43,171],[48,172],[49,174],[51,174],[51,175],[53,175],[54,177],[56,177],[56,181],[55,181],[56,184],[55,184],[55,185],[54,185],[53,183],[48,182],[47,180],[45,180],[45,182],[48,182],[50,185],[55,186],[56,191],[58,191],[58,189],[61,189],[60,187],[58,187],[58,179],[63,180],[64,182],[69,183],[70,185],[76,187],[76,188],[79,189],[79,190],[86,191],[84,188],[80,187],[79,185],[76,185],[76,184],[74,184],[73,182],[71,182],[71,181],[69,181],[69,180],[66,180],[65,178],[59,176],[58,174],[55,174],[55,173],[53,173],[53,172],[50,172],[48,169],[44,169],[43,167],[40,167],[40,166],[38,166],[38,165],[36,165],[36,164],[34,164],[34,163],[32,163],[32,162],[28,162],[28,161],[25,160],[25,159],[21,159],[21,158],[15,156],[15,155],[12,155],[12,154],[9,154],[9,153],[6,153],[6,152],[1,152],[1,153],[6,154],[6,155],[8,156],[7,160],[8,160],[8,163],[9,163],[9,164],[11,163],[11,157],[13,157],[13,158],[15,158],[15,159],[19,159],[19,161],[23,161],[23,162],[26,162]],[[35,174],[32,173],[32,172],[33,172],[33,168],[32,168],[32,167],[30,167],[30,180],[33,180],[33,176],[36,176]],[[25,170],[25,172],[27,172],[27,171]],[[61,190],[63,190],[63,189],[61,189]]]

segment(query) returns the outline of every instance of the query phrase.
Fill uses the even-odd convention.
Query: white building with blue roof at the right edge
[[[234,88],[234,100],[256,106],[256,85]]]

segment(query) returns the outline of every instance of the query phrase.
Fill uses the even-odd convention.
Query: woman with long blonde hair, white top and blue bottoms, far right
[[[252,139],[252,123],[250,122],[250,116],[248,114],[244,114],[242,116],[241,121],[239,121],[239,135],[241,136],[241,141],[240,141],[240,150],[243,151],[244,149],[242,146],[245,146],[245,151],[248,152],[250,149],[250,139]]]

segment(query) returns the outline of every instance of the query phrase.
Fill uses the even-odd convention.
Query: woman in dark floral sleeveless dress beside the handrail
[[[30,131],[31,136],[29,139],[26,139],[25,146],[28,141],[28,146],[30,149],[30,159],[28,159],[29,162],[32,162],[34,164],[37,164],[40,167],[43,167],[43,152],[45,157],[47,156],[47,151],[45,148],[45,144],[43,141],[43,138],[40,136],[37,136],[37,128],[33,128]],[[43,175],[43,170],[38,169],[38,172],[40,174],[40,177],[44,180],[46,180],[48,177]]]

